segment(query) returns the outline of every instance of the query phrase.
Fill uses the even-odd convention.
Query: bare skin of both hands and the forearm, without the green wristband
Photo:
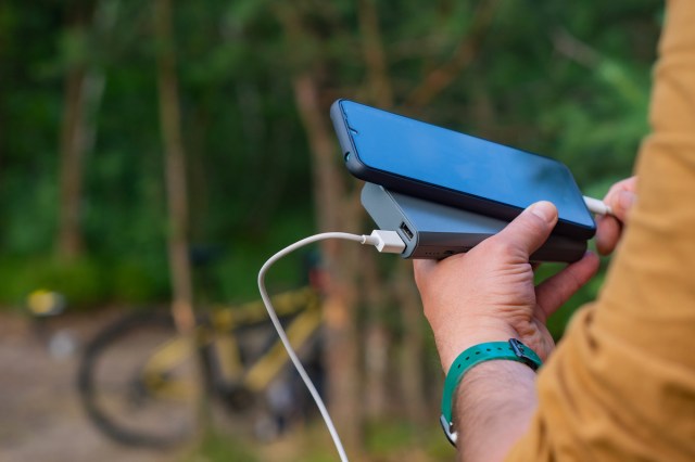
[[[616,247],[635,201],[635,177],[610,189],[604,202],[616,216],[597,219],[599,253],[608,254]],[[547,317],[598,269],[597,256],[587,253],[534,286],[529,255],[547,240],[556,222],[555,206],[540,202],[467,254],[441,261],[414,261],[425,316],[444,372],[462,351],[483,342],[514,337],[543,360],[552,354],[555,344],[545,326]],[[455,428],[466,428],[459,436],[462,460],[494,461],[506,454],[528,428],[535,410],[534,381],[530,368],[502,360],[479,364],[465,375],[454,410]]]

